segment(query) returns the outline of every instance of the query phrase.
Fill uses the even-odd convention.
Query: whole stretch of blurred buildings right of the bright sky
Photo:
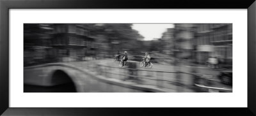
[[[219,64],[232,66],[232,24],[175,24],[173,53],[198,64],[216,57]]]

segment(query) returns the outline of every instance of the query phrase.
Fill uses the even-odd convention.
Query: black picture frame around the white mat
[[[248,10],[247,108],[10,108],[9,10],[19,8],[243,8]],[[10,0],[0,1],[0,114],[3,115],[256,115],[255,0]],[[246,39],[246,38],[241,38]],[[246,78],[246,77],[244,77]],[[125,99],[124,99],[125,100]],[[239,100],[239,99],[237,99]]]

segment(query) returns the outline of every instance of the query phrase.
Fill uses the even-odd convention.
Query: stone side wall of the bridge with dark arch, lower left
[[[60,85],[68,85],[61,87]],[[32,87],[31,87],[32,86]],[[83,69],[68,63],[51,63],[24,68],[24,92],[26,88],[58,87],[42,92],[166,92],[154,86],[107,78],[95,70]],[[39,91],[33,91],[39,92]]]

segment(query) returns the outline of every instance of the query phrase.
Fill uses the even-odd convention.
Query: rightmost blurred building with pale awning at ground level
[[[196,62],[216,57],[221,64],[232,64],[232,24],[196,24],[195,37]]]

